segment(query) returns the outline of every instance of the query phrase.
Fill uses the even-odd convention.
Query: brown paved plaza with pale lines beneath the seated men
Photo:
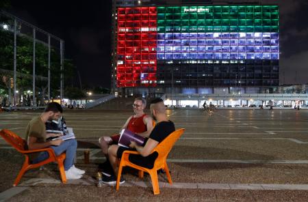
[[[79,147],[78,180],[61,184],[56,164],[28,171],[12,187],[23,156],[0,138],[0,201],[307,201],[308,109],[168,110],[176,128],[185,128],[168,156],[173,184],[159,174],[160,194],[151,179],[125,170],[125,184],[98,188],[93,178],[105,161],[97,140],[118,132],[133,111],[66,110]],[[27,122],[40,111],[0,113],[0,129],[25,137]],[[90,164],[84,150],[90,149]]]

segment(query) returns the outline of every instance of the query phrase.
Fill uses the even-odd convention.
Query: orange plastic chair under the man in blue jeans
[[[59,167],[61,179],[63,183],[66,183],[66,176],[64,172],[64,159],[65,159],[65,153],[61,154],[60,156],[55,156],[55,153],[53,152],[53,149],[51,148],[44,148],[44,149],[33,149],[33,150],[26,150],[25,145],[27,144],[24,139],[22,139],[20,136],[15,134],[14,132],[3,129],[0,131],[0,136],[5,139],[12,147],[14,147],[18,152],[25,155],[25,162],[23,162],[23,167],[21,168],[21,171],[19,171],[15,182],[13,186],[17,186],[18,182],[21,180],[21,177],[23,177],[23,174],[29,170],[29,169],[35,169],[37,167],[41,167],[44,164],[48,164],[49,162],[57,162],[57,166]],[[42,162],[38,162],[36,164],[31,164],[29,161],[29,154],[33,154],[36,152],[48,152],[49,158],[46,160],[43,160]]]

